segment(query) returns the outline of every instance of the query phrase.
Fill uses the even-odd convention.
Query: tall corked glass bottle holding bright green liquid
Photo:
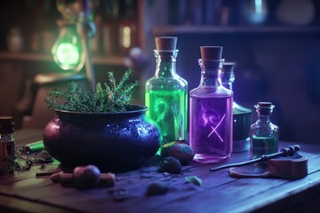
[[[147,115],[161,128],[163,144],[186,139],[188,83],[176,73],[177,37],[156,37],[156,74],[145,87]]]

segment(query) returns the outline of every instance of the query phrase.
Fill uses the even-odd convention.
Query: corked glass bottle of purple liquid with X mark
[[[189,142],[196,162],[227,162],[232,153],[233,91],[221,83],[222,47],[200,50],[200,85],[189,92]]]

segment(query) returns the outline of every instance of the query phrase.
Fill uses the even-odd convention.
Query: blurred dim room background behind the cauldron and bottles
[[[43,129],[52,119],[44,104],[50,88],[71,81],[86,86],[84,68],[62,70],[52,57],[59,2],[11,0],[0,6],[0,115],[12,115],[16,130]],[[122,75],[132,67],[132,80],[140,80],[134,103],[144,104],[144,83],[156,68],[154,37],[177,36],[177,73],[190,91],[200,81],[199,47],[220,45],[223,58],[236,62],[237,103],[253,109],[258,101],[271,101],[281,140],[319,142],[319,1],[92,0],[91,9],[97,82],[106,82],[108,71]],[[256,118],[253,112],[252,122]]]

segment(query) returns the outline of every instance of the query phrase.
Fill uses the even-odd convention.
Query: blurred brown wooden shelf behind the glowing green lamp
[[[32,52],[9,52],[0,51],[0,59],[20,60],[20,61],[38,61],[38,62],[53,62],[52,55],[32,53]],[[115,65],[124,66],[124,57],[121,56],[94,56],[92,57],[93,64],[96,65]]]

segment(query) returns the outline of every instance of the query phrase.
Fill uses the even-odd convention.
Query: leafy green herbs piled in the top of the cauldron
[[[124,112],[132,101],[132,91],[138,81],[127,83],[132,69],[125,71],[117,82],[113,72],[108,72],[108,83],[97,83],[95,90],[81,91],[77,83],[70,83],[68,91],[50,90],[45,102],[49,108],[84,112],[108,113]]]

